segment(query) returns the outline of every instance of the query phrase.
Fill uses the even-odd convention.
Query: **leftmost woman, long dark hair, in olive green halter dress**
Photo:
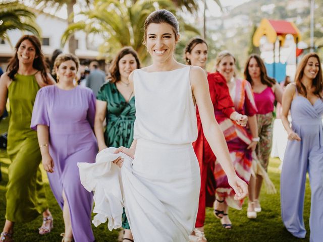
[[[7,153],[12,162],[8,170],[6,223],[1,242],[13,241],[15,222],[29,222],[40,214],[43,223],[39,233],[48,233],[52,228],[39,169],[41,155],[37,133],[30,129],[30,120],[37,91],[55,82],[46,73],[37,37],[24,35],[15,47],[7,72],[0,78],[0,115],[7,97],[10,100]]]

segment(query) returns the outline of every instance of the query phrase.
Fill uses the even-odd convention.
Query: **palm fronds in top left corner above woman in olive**
[[[18,2],[0,4],[0,38],[12,47],[8,30],[19,29],[40,36],[40,28],[36,24],[36,16],[27,7]]]

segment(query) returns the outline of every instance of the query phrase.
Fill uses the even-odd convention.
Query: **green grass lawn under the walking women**
[[[8,119],[0,123],[0,134],[3,133],[8,126]],[[1,171],[3,174],[3,181],[0,182],[0,229],[5,223],[5,210],[6,210],[6,184],[8,182],[8,166],[10,160],[5,150],[0,150]],[[280,214],[280,170],[278,166],[279,159],[271,159],[268,173],[273,180],[277,194],[267,195],[264,192],[261,194],[262,212],[258,213],[255,220],[247,218],[247,204],[241,211],[231,209],[229,212],[230,219],[233,223],[233,229],[227,230],[221,227],[220,220],[216,219],[212,214],[212,209],[208,208],[206,211],[205,220],[205,234],[209,242],[212,241],[309,241],[309,209],[310,209],[310,189],[307,180],[306,183],[306,196],[304,206],[304,221],[307,229],[307,235],[304,239],[298,239],[292,236],[283,226]],[[23,241],[61,241],[60,233],[64,231],[64,223],[62,218],[62,211],[53,197],[45,172],[43,172],[44,180],[46,181],[46,194],[49,203],[49,209],[54,217],[54,228],[51,233],[47,235],[39,235],[37,228],[41,224],[41,216],[30,223],[17,223],[15,226],[14,239],[17,242]],[[144,225],[143,225],[144,226]],[[101,224],[97,228],[93,226],[96,241],[118,241],[118,230],[110,232],[106,224]],[[149,232],[149,231],[147,231]],[[140,241],[138,241],[140,242]],[[153,241],[151,241],[153,242]],[[176,241],[174,241],[176,242]]]

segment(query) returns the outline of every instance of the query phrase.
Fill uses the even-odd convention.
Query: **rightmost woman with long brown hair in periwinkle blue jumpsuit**
[[[281,174],[282,219],[295,237],[304,238],[303,220],[306,172],[311,187],[310,241],[323,238],[323,101],[322,71],[319,57],[306,54],[298,66],[295,84],[283,96],[282,122],[288,133]],[[292,115],[292,127],[287,119]]]

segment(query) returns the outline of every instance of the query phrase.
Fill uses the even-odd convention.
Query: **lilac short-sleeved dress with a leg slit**
[[[80,86],[62,90],[56,85],[37,92],[31,128],[49,127],[49,153],[53,173],[48,173],[50,188],[63,209],[63,190],[70,207],[75,241],[94,241],[91,229],[93,196],[81,185],[77,162],[94,163],[97,143],[92,128],[95,97]]]

